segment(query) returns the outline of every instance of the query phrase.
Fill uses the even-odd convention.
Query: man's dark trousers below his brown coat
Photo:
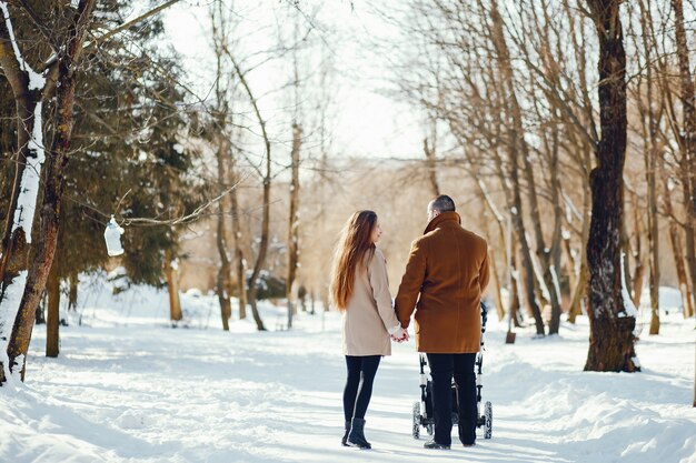
[[[476,441],[476,354],[428,354],[432,376],[432,417],[435,442],[451,445],[451,379],[457,385],[459,440],[463,444]]]

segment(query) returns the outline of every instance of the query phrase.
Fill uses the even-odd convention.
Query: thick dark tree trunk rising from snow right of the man
[[[589,350],[585,370],[639,371],[636,319],[622,294],[620,238],[626,157],[626,51],[619,0],[586,0],[599,40],[597,167],[590,173],[593,215],[587,242]]]

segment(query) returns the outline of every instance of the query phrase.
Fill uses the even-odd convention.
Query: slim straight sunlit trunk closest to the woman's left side
[[[286,283],[286,299],[288,301],[288,330],[292,328],[295,306],[294,285],[299,263],[299,200],[300,200],[300,147],[302,143],[302,128],[292,124],[291,182],[290,182],[290,220],[288,231],[288,280]]]

